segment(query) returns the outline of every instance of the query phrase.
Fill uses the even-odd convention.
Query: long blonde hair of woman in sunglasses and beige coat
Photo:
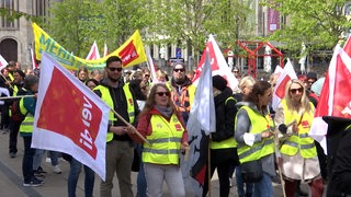
[[[303,88],[303,96],[301,97],[301,105],[298,105],[298,107],[296,108],[296,105],[294,105],[293,99],[290,94],[290,89],[292,86],[292,84],[297,83]],[[307,97],[307,93],[306,93],[306,88],[304,85],[304,83],[302,81],[299,81],[298,79],[293,79],[290,80],[286,85],[285,85],[285,101],[286,101],[286,106],[290,111],[297,111],[298,113],[310,113],[313,111],[310,104],[309,104],[309,100]]]

